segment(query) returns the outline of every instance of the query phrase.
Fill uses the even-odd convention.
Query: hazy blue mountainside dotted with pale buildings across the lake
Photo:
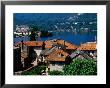
[[[16,25],[38,25],[45,30],[97,30],[96,13],[14,13]]]

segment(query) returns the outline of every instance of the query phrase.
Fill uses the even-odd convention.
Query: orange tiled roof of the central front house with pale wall
[[[64,52],[63,50],[55,50],[49,56],[47,56],[46,60],[48,61],[65,61],[65,58],[69,54]]]

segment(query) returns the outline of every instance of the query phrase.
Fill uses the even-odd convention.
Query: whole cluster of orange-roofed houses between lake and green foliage
[[[62,71],[67,57],[97,59],[96,42],[85,42],[79,46],[61,39],[46,41],[22,41],[14,44],[14,74],[21,74],[39,63],[49,71]]]

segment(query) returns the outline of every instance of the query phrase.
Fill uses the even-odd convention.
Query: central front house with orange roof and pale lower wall
[[[65,58],[68,55],[69,55],[68,53],[64,52],[61,49],[54,50],[49,55],[47,55],[47,57],[45,57],[45,60],[48,63],[49,71],[53,70],[62,71],[63,66],[65,65]]]

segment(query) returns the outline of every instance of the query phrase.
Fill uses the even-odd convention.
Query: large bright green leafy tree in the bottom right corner
[[[94,60],[75,59],[70,65],[65,65],[64,75],[97,75],[97,65]]]

